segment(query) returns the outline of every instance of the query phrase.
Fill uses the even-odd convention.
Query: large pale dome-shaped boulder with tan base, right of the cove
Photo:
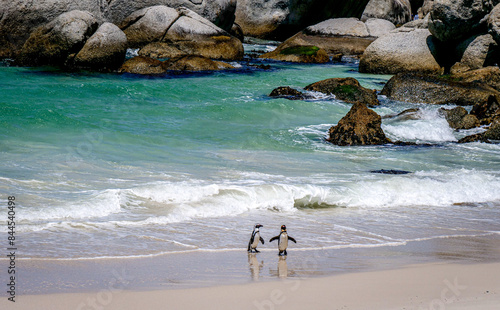
[[[359,71],[442,73],[436,58],[437,47],[429,30],[403,27],[370,44],[361,57]]]

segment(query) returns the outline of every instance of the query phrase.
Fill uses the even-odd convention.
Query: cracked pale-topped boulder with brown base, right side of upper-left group
[[[201,55],[213,59],[241,59],[240,40],[194,11],[165,6],[134,12],[120,25],[131,46],[144,56],[171,58]]]

